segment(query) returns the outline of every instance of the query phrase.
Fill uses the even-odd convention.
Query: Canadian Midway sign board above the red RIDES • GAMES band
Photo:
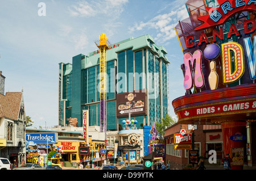
[[[202,3],[205,10],[200,6],[204,11],[201,14],[189,10],[190,19],[175,27],[184,54],[181,69],[186,95],[252,84],[256,79],[255,2],[218,1],[219,6],[214,8],[210,4]],[[241,13],[246,15],[240,16]],[[232,16],[237,18],[233,20]]]

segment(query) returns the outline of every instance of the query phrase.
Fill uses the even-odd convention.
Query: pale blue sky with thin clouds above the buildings
[[[45,16],[39,3],[46,5]],[[188,17],[184,0],[0,1],[0,71],[5,92],[24,91],[33,126],[58,124],[59,63],[97,49],[106,33],[111,43],[150,34],[167,49],[170,115],[172,100],[185,94],[183,53],[174,27]],[[39,11],[42,12],[42,11]]]

